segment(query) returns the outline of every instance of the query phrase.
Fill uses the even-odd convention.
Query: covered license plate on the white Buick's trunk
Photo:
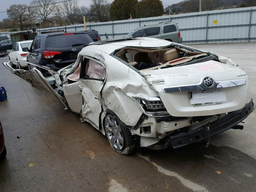
[[[218,105],[227,101],[226,92],[221,89],[194,91],[191,96],[190,104],[194,107]]]

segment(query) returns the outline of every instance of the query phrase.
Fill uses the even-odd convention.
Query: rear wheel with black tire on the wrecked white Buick
[[[113,150],[122,155],[132,155],[136,152],[136,137],[132,136],[130,130],[116,114],[107,112],[104,119],[104,128]]]

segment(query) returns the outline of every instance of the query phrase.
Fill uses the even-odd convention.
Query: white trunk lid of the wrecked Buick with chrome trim
[[[143,72],[149,87],[158,92],[172,116],[222,114],[241,109],[246,103],[248,77],[238,66],[210,60]],[[205,77],[214,80],[210,88],[202,84]],[[206,83],[207,81],[206,79]],[[208,90],[208,92],[202,93],[202,90]],[[194,91],[199,91],[200,94],[196,95]],[[209,102],[209,105],[196,107],[192,104],[191,97],[201,100],[204,104]],[[219,100],[223,102],[217,104]]]

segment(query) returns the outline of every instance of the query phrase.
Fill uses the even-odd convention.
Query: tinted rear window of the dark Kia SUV
[[[46,38],[45,47],[65,48],[73,45],[87,45],[94,42],[88,34],[55,35]]]

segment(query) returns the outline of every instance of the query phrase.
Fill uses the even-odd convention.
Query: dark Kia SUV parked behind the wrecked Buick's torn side
[[[74,63],[80,50],[91,42],[94,41],[86,32],[57,32],[37,35],[30,49],[22,50],[29,52],[28,62],[58,71]]]

